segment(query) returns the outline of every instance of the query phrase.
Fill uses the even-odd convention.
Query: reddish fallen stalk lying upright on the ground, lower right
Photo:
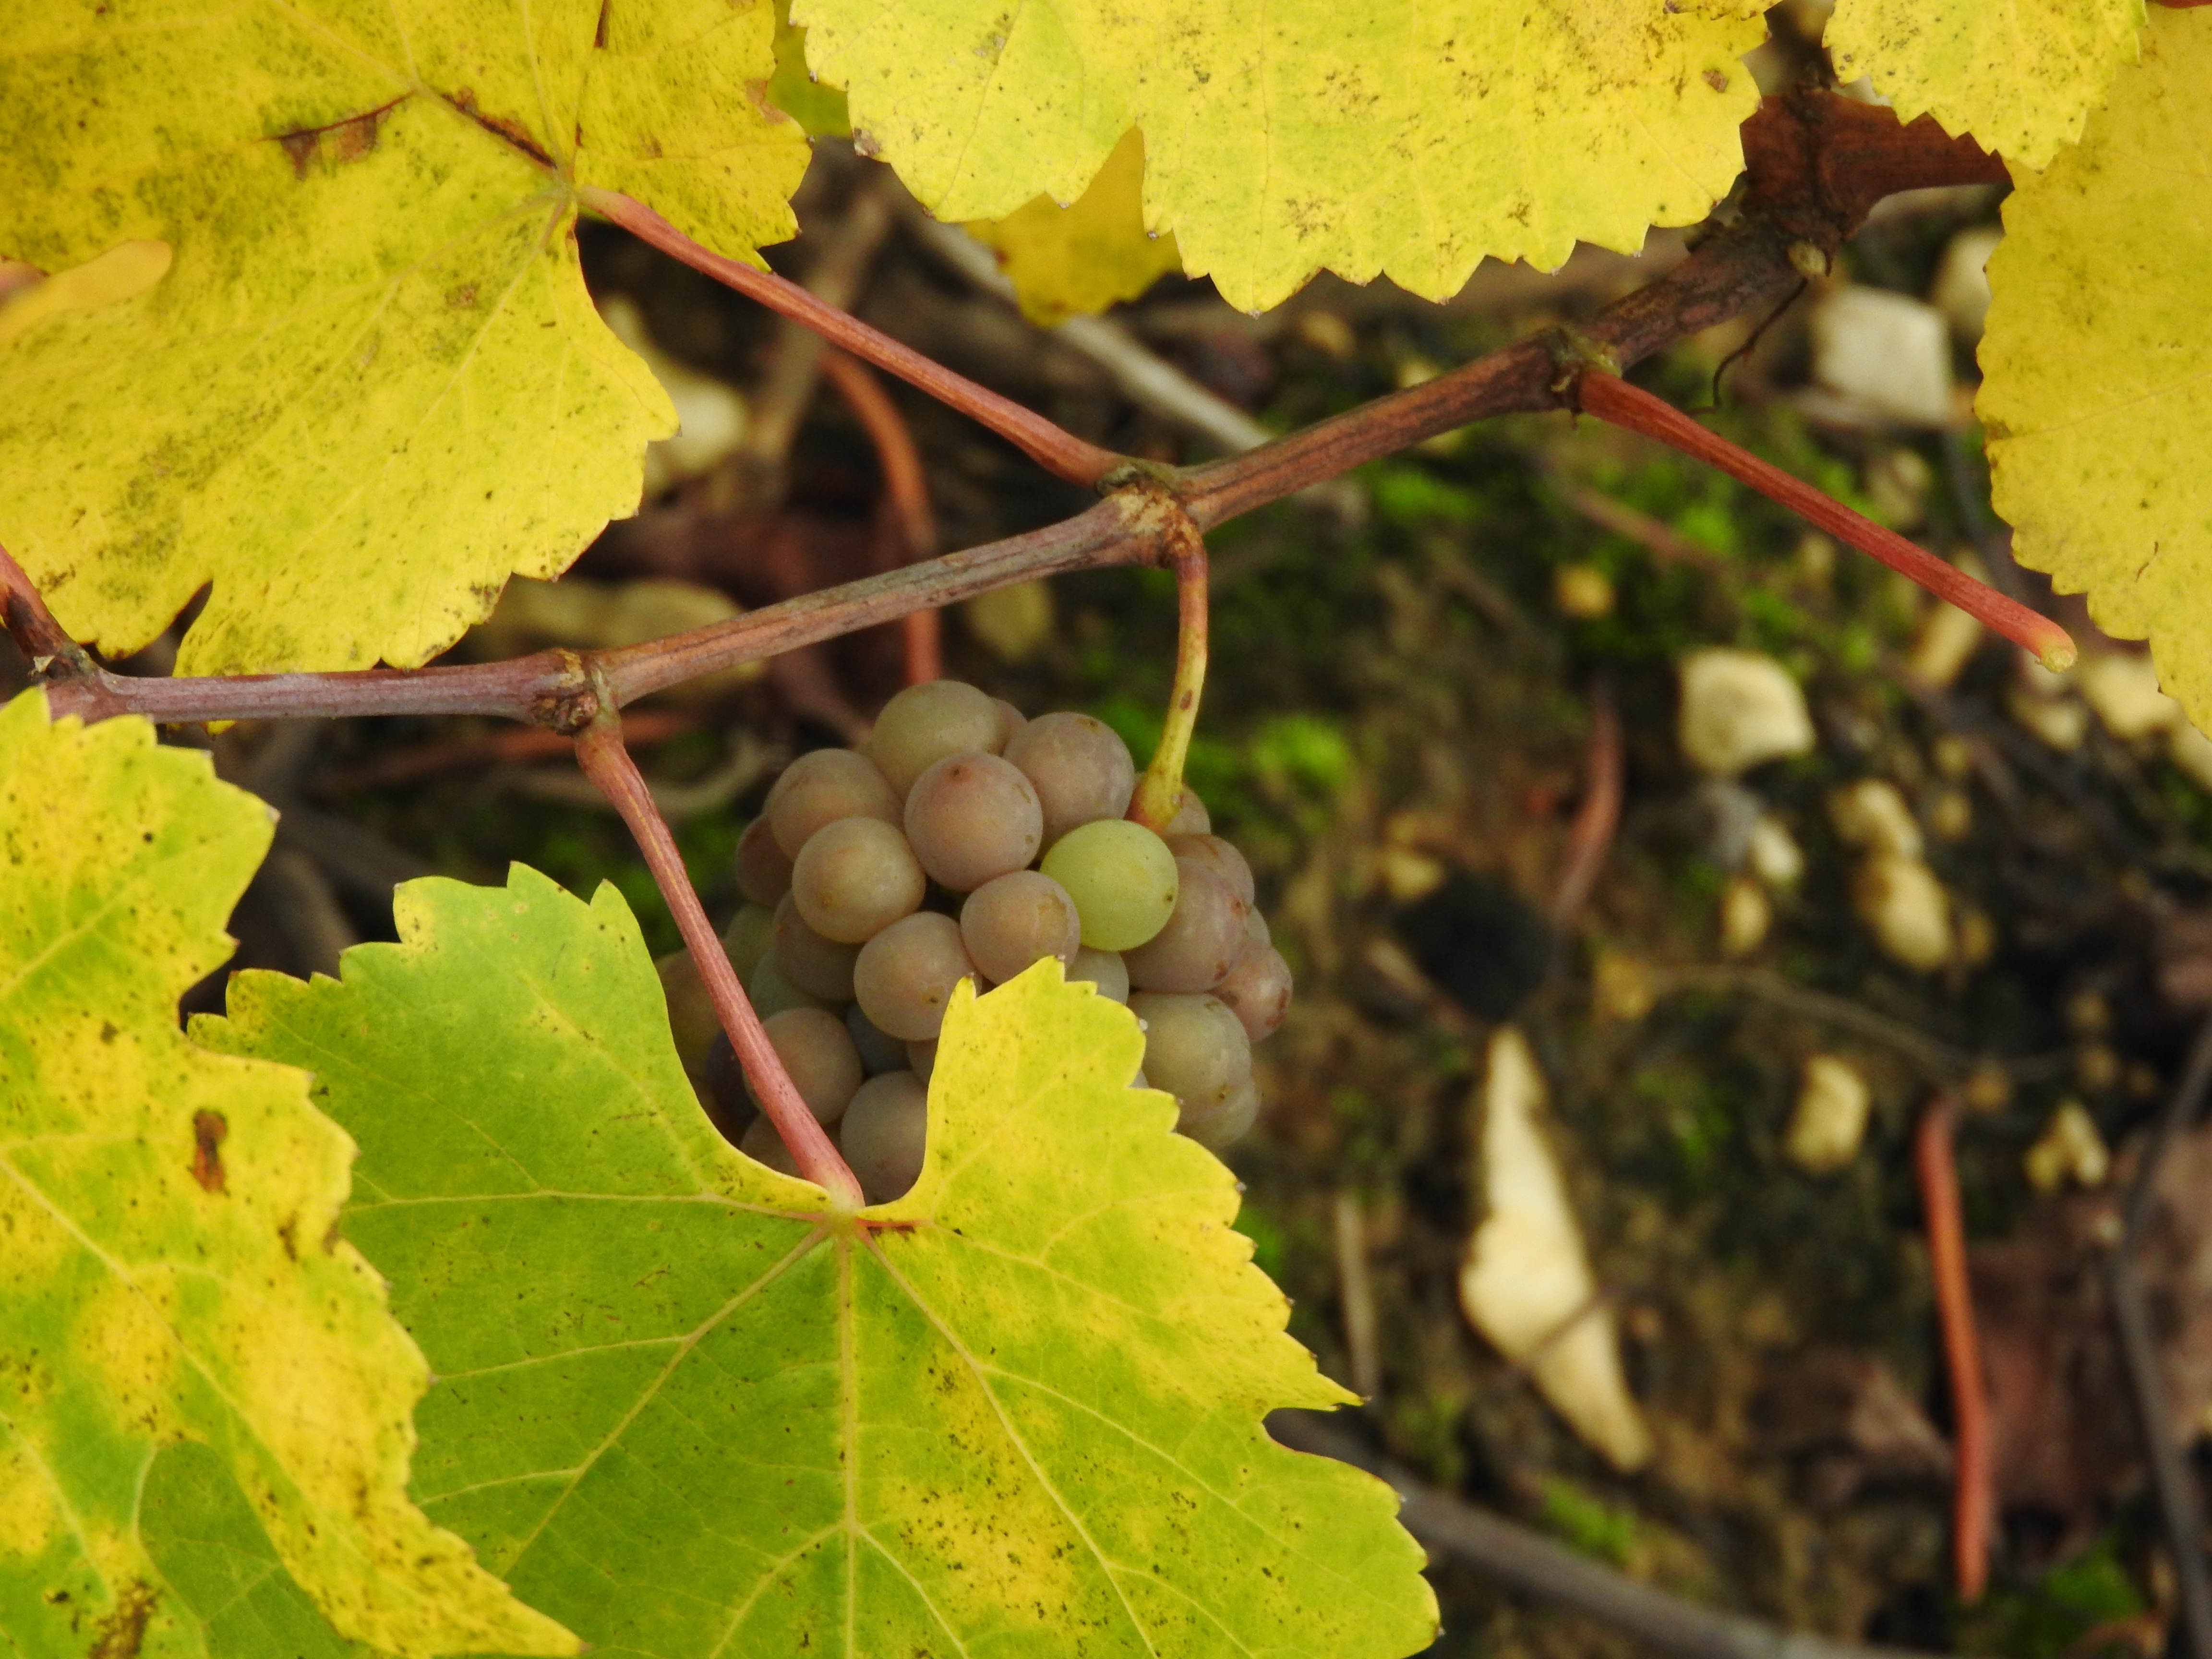
[[[1936,1316],[1942,1323],[1944,1371],[1951,1378],[1955,1495],[1951,1509],[1951,1564],[1962,1601],[1980,1601],[1989,1584],[1989,1533],[1995,1517],[1995,1471],[1989,1462],[1989,1394],[1982,1387],[1982,1340],[1973,1327],[1973,1290],[1966,1281],[1966,1223],[1958,1203],[1958,1164],[1951,1133],[1958,1102],[1938,1095],[1913,1133],[1913,1175],[1929,1230],[1929,1272],[1936,1279]]]

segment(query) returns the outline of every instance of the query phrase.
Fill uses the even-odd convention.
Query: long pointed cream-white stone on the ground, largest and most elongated
[[[1486,1214],[1460,1270],[1460,1307],[1615,1469],[1652,1455],[1650,1429],[1621,1374],[1613,1310],[1544,1141],[1544,1075],[1513,1026],[1491,1035],[1482,1079],[1482,1194]]]

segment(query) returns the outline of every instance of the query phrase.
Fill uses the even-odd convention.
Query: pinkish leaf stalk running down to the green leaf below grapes
[[[721,1020],[721,1029],[728,1033],[730,1046],[745,1068],[752,1093],[761,1099],[761,1110],[768,1113],[768,1121],[776,1126],[776,1135],[790,1148],[792,1161],[799,1164],[799,1175],[827,1192],[838,1210],[867,1208],[860,1183],[845,1166],[836,1146],[830,1144],[830,1135],[821,1121],[799,1099],[792,1075],[783,1068],[783,1060],[761,1029],[761,1015],[752,1011],[745,987],[737,982],[730,953],[721,949],[721,940],[714,936],[714,927],[706,920],[706,909],[699,905],[699,894],[690,885],[690,872],[684,869],[684,854],[677,852],[677,838],[668,832],[668,821],[661,818],[661,810],[653,803],[653,790],[646,787],[637,761],[630,759],[628,748],[622,743],[622,719],[613,712],[611,699],[602,699],[597,719],[577,732],[575,759],[584,768],[584,776],[597,783],[615,812],[622,814],[622,821],[637,838],[637,847],[646,854],[646,867],[653,872],[661,898],[668,900],[668,909],[677,918],[677,931],[684,936],[684,947],[690,951],[692,964],[699,969],[699,980],[714,1004],[714,1018]]]

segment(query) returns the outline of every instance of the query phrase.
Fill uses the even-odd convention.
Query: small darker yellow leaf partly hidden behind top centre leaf
[[[1068,206],[1037,197],[969,234],[998,250],[1022,316],[1037,327],[1095,316],[1181,270],[1175,232],[1144,230],[1144,133],[1130,128]]]

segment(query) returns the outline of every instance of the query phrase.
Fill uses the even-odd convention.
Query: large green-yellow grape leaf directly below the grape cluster
[[[1347,1400],[1057,964],[947,1015],[916,1188],[858,1217],[730,1148],[613,887],[420,880],[343,980],[195,1035],[310,1066],[345,1234],[438,1387],[414,1493],[602,1652],[1405,1655],[1396,1500],[1276,1447]]]

